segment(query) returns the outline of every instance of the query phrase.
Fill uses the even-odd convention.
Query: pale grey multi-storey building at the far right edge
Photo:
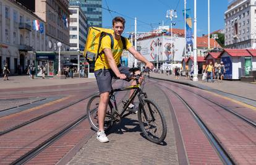
[[[252,48],[256,37],[256,1],[234,0],[224,13],[226,48]]]

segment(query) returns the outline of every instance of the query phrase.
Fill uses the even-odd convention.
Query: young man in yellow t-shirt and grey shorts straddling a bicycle
[[[122,46],[121,35],[122,32],[124,32],[125,22],[126,21],[122,17],[115,17],[113,19],[113,49],[111,49],[111,38],[109,36],[103,37],[100,48],[100,50],[103,51],[103,54],[101,54],[95,62],[95,77],[100,91],[100,104],[98,107],[99,130],[96,138],[103,143],[109,141],[104,132],[104,119],[106,116],[106,108],[108,106],[109,91],[112,89],[112,78],[116,76],[120,79],[125,79],[127,75],[130,74],[129,67],[122,67],[120,64],[122,49],[124,48]],[[145,67],[153,69],[153,64],[137,52],[127,38],[126,48],[136,59],[144,62]],[[133,82],[133,84],[135,85],[135,82]]]

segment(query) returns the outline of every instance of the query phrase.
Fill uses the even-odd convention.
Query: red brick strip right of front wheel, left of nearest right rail
[[[190,114],[186,106],[166,88],[166,95],[171,100],[175,111],[179,128],[181,130],[184,147],[186,148],[189,164],[222,164],[218,154],[211,146],[208,138],[200,129],[194,117]]]

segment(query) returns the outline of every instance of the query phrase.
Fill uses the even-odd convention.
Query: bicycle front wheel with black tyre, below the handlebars
[[[153,143],[161,143],[166,137],[167,127],[163,112],[151,99],[140,103],[138,119],[145,137]]]

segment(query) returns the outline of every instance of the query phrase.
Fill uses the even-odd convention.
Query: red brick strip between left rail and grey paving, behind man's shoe
[[[118,86],[122,86],[122,83],[114,85],[114,87]],[[127,91],[117,93],[117,103],[121,103],[125,95]],[[66,164],[94,134],[95,132],[90,129],[90,124],[86,119],[26,164]]]

